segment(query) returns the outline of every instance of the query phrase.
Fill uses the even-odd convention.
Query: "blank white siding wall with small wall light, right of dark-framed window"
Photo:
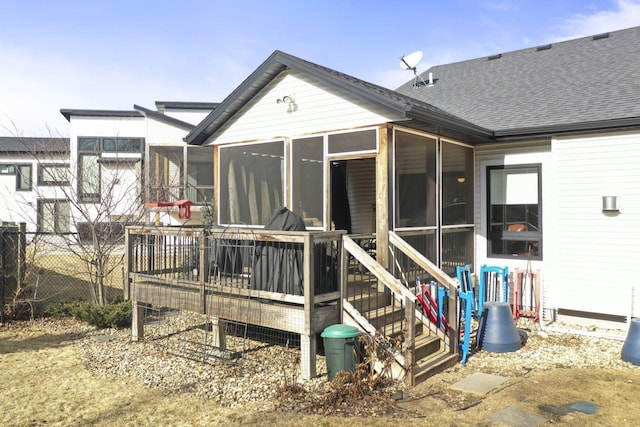
[[[556,138],[552,147],[558,307],[640,315],[640,133]],[[617,196],[620,213],[603,213],[602,196]]]

